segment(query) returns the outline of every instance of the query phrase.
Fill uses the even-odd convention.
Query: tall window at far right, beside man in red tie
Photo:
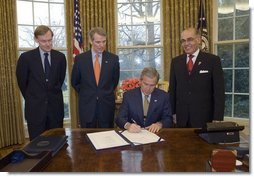
[[[217,0],[215,50],[225,78],[225,117],[249,118],[248,0]]]

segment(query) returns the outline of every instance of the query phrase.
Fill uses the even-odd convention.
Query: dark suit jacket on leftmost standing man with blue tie
[[[39,48],[22,53],[17,63],[16,76],[25,99],[25,118],[28,124],[43,126],[47,116],[60,124],[63,122],[64,104],[61,88],[66,74],[66,58],[56,50],[51,50],[50,57],[48,83]]]

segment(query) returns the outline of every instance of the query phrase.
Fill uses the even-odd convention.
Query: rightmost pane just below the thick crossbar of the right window
[[[249,43],[235,45],[235,66],[249,67]]]

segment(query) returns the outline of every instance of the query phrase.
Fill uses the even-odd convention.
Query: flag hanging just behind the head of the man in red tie
[[[203,0],[200,0],[199,14],[198,14],[198,30],[202,37],[201,49],[205,52],[209,51],[207,24],[205,18],[205,11],[203,7]]]

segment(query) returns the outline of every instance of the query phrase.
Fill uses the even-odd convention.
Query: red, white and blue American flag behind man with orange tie
[[[73,58],[83,52],[82,31],[80,26],[79,0],[74,0]]]

